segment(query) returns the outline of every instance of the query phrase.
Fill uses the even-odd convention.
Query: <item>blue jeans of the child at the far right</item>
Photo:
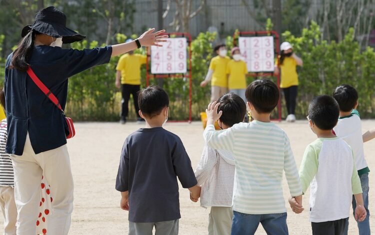
[[[366,209],[367,216],[363,221],[361,222],[357,221],[357,225],[358,225],[359,235],[369,235],[371,234],[371,232],[370,232],[370,222],[369,222],[370,212],[368,211],[368,173],[359,175],[359,179],[360,179],[360,184],[362,186],[363,204],[364,204],[364,208]],[[353,196],[353,200],[351,203],[353,206],[353,210],[355,211],[356,203],[355,203],[354,196]],[[348,226],[349,226],[349,220],[347,220],[346,222],[346,229],[345,229],[346,232],[348,230]]]

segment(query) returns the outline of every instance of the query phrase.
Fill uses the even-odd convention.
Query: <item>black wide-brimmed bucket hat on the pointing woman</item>
[[[54,6],[48,6],[37,12],[34,23],[24,26],[21,36],[24,37],[31,29],[48,36],[62,37],[62,43],[80,41],[86,37],[67,28],[65,14]]]

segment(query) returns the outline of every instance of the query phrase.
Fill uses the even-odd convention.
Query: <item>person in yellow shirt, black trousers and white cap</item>
[[[274,74],[278,75],[281,72],[280,88],[284,93],[286,109],[288,115],[286,121],[295,121],[295,105],[298,90],[298,74],[297,65],[302,66],[303,61],[293,53],[293,48],[289,42],[284,41],[280,45],[281,53],[275,64]]]

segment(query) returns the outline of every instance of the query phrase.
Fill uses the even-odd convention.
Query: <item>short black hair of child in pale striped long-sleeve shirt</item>
[[[258,79],[247,86],[245,95],[257,112],[270,113],[277,106],[280,91],[273,81]]]

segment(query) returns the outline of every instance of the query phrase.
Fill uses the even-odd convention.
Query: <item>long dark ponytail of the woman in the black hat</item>
[[[17,48],[13,52],[10,68],[16,68],[21,71],[27,70],[27,67],[29,66],[29,61],[31,58],[32,49],[34,47],[36,34],[40,34],[40,33],[31,29],[19,41]]]

